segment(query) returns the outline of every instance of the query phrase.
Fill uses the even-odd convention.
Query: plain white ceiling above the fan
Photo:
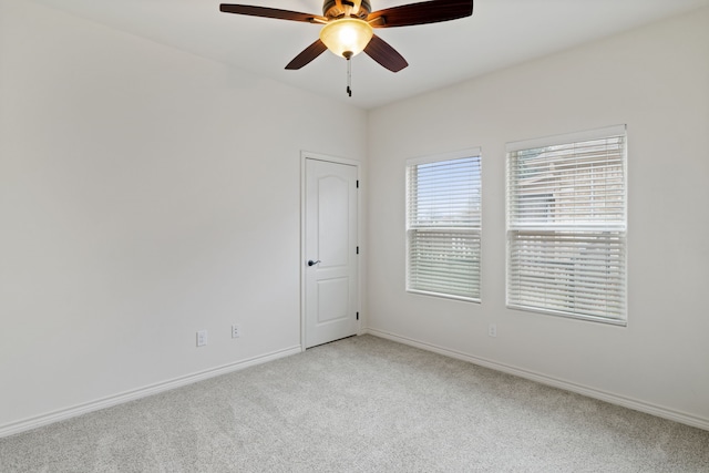
[[[321,13],[321,0],[34,1],[362,109],[709,6],[709,0],[475,0],[470,18],[378,29],[409,66],[394,74],[366,54],[353,58],[348,97],[347,62],[329,52],[299,71],[284,69],[318,38],[320,27],[219,12],[225,2]],[[380,10],[419,0],[370,1]]]

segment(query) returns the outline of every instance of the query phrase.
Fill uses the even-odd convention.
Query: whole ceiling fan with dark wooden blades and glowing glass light
[[[222,3],[219,10],[225,13],[322,24],[320,38],[294,58],[286,69],[300,69],[329,49],[348,61],[363,51],[388,70],[399,72],[409,63],[389,43],[376,35],[373,28],[410,27],[470,17],[473,14],[473,0],[429,0],[378,11],[371,11],[369,0],[325,0],[322,16],[228,3]]]

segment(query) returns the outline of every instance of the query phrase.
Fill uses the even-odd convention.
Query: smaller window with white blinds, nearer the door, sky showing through
[[[407,161],[407,290],[480,301],[480,150]]]

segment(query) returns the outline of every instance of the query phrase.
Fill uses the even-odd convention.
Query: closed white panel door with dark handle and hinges
[[[306,158],[306,348],[357,333],[357,166]]]

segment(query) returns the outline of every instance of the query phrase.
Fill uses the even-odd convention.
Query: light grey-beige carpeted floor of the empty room
[[[372,336],[0,439],[7,472],[709,472],[709,432]]]

